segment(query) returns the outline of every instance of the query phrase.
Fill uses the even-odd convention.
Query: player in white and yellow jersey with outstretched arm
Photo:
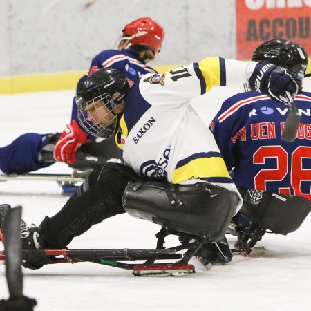
[[[191,100],[213,86],[245,82],[282,100],[284,91],[296,95],[293,76],[290,70],[268,62],[219,57],[169,73],[144,75],[131,88],[114,68],[94,71],[78,88],[77,117],[97,137],[108,139],[117,131],[123,164],[94,169],[59,213],[46,216],[39,227],[22,224],[23,245],[30,250],[23,265],[42,267],[45,259],[32,256],[31,249],[67,247],[92,225],[129,210],[155,222],[160,217],[180,232],[198,234],[204,227],[203,234],[220,241],[242,200]],[[151,205],[158,216],[151,215]],[[170,213],[178,216],[170,218]],[[202,221],[200,213],[209,217]]]

